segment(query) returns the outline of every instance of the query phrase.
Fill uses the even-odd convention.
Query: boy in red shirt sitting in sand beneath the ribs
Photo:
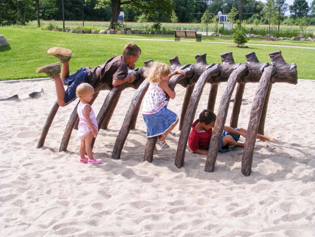
[[[203,110],[199,119],[192,124],[192,130],[188,137],[188,146],[193,153],[208,155],[210,146],[212,128],[215,125],[216,115],[211,110]],[[238,146],[244,148],[244,143],[238,142],[238,139],[242,135],[246,138],[247,130],[241,127],[232,128],[224,126],[224,130],[221,137],[219,151],[226,153],[229,151],[230,146]],[[261,134],[257,134],[257,139],[261,141],[274,142],[275,138],[270,138]]]

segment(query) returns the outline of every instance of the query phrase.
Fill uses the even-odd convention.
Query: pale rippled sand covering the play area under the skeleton
[[[246,85],[244,98],[253,100],[257,85]],[[76,102],[58,110],[44,147],[37,149],[56,99],[54,83],[0,86],[0,99],[19,95],[0,101],[0,236],[315,236],[315,82],[273,85],[265,134],[277,140],[257,140],[249,177],[241,173],[242,149],[236,147],[219,153],[213,173],[204,171],[206,156],[189,149],[178,169],[178,126],[167,138],[171,150],[158,147],[153,162],[143,162],[141,114],[121,159],[111,159],[132,88],[123,91],[108,129],[98,134],[93,151],[101,164],[77,162],[75,130],[68,150],[58,152]],[[28,98],[38,87],[44,93]],[[219,86],[215,112],[224,87]],[[209,88],[203,90],[196,119],[206,108]],[[180,116],[185,88],[175,90],[168,108]],[[96,114],[107,93],[95,101]],[[247,128],[251,105],[242,106],[240,127]]]

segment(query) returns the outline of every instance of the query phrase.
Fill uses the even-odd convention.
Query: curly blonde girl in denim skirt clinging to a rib
[[[166,94],[171,99],[175,98],[175,91],[169,88],[167,82],[175,74],[186,75],[185,71],[176,70],[172,72],[170,66],[161,62],[154,62],[146,72],[146,80],[150,82],[149,88],[144,96],[142,116],[146,123],[146,137],[157,137],[157,144],[164,150],[170,150],[165,137],[178,123],[177,115],[165,108],[169,103]]]

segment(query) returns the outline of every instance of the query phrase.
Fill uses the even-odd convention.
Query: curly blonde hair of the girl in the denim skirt
[[[146,71],[145,76],[148,82],[162,82],[161,76],[172,73],[172,68],[162,62],[154,62]]]

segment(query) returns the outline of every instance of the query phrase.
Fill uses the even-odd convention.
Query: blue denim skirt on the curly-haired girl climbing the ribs
[[[142,114],[146,123],[146,137],[152,138],[165,133],[177,120],[177,115],[163,107],[155,114]]]

